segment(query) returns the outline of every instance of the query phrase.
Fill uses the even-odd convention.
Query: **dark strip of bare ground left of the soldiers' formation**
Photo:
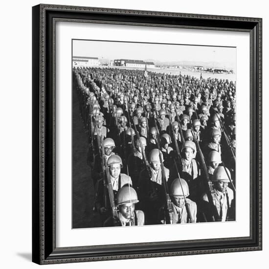
[[[78,96],[72,92],[72,227],[98,227],[93,212],[94,189],[87,165],[88,134],[79,113]]]

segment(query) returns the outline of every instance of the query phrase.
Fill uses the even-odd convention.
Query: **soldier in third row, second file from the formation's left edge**
[[[141,148],[140,143],[142,144],[143,148]],[[129,176],[132,179],[134,189],[137,189],[139,174],[145,168],[142,154],[145,152],[146,146],[147,146],[147,140],[145,137],[141,136],[140,141],[139,138],[137,138],[135,140],[136,150],[133,153],[131,153],[131,155],[128,158],[128,171]]]

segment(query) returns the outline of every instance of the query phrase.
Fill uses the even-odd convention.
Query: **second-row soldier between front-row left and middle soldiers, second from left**
[[[150,168],[142,170],[139,176],[139,197],[147,224],[158,224],[158,211],[166,199],[163,180],[169,179],[169,170],[164,167],[164,171],[162,171],[160,154],[158,149],[150,152]],[[163,159],[162,154],[161,159]],[[162,173],[164,173],[165,179],[163,179]]]

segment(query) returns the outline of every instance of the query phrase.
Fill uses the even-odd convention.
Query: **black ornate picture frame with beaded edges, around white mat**
[[[89,240],[88,246],[57,247],[57,22],[249,33],[249,236],[94,246]],[[57,264],[262,249],[262,19],[40,4],[33,7],[32,32],[33,262]]]

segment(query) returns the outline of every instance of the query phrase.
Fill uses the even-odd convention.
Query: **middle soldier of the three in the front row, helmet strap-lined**
[[[180,180],[180,181],[179,181]],[[184,179],[174,179],[170,187],[172,200],[173,224],[196,223],[197,205],[189,198],[189,186]],[[163,208],[159,213],[160,223],[166,224]]]

